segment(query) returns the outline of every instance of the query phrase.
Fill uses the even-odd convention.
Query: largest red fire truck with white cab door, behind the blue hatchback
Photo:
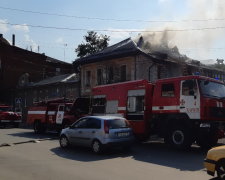
[[[225,85],[202,76],[137,80],[93,88],[92,113],[123,116],[145,139],[158,135],[176,148],[215,145],[224,137]]]

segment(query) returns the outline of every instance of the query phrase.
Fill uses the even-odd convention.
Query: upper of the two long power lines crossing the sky
[[[100,17],[88,17],[88,16],[75,16],[68,14],[58,14],[58,13],[47,13],[40,11],[31,11],[24,9],[8,8],[0,6],[0,9],[18,11],[23,13],[32,13],[32,14],[41,14],[48,16],[58,16],[58,17],[67,17],[67,18],[76,18],[76,19],[87,19],[87,20],[100,20],[100,21],[118,21],[118,22],[150,22],[150,23],[177,23],[177,22],[206,22],[206,21],[224,21],[225,18],[209,18],[209,19],[183,19],[183,20],[141,20],[141,19],[114,19],[114,18],[100,18]]]

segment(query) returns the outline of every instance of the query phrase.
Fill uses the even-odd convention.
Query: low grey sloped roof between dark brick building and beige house
[[[79,81],[79,78],[76,73],[63,74],[59,76],[46,78],[39,82],[33,83],[30,86],[44,86],[44,85],[51,85],[51,84],[58,84],[58,83],[75,83],[78,81]]]

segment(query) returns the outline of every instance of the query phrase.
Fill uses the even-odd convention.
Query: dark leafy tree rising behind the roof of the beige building
[[[88,31],[84,36],[86,43],[81,43],[75,49],[78,57],[85,57],[99,52],[108,46],[110,37],[107,35],[98,35],[97,32]]]

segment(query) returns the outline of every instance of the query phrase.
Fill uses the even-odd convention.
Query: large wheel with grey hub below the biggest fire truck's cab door
[[[189,148],[191,139],[190,132],[185,127],[175,127],[169,133],[169,143],[177,149]]]

